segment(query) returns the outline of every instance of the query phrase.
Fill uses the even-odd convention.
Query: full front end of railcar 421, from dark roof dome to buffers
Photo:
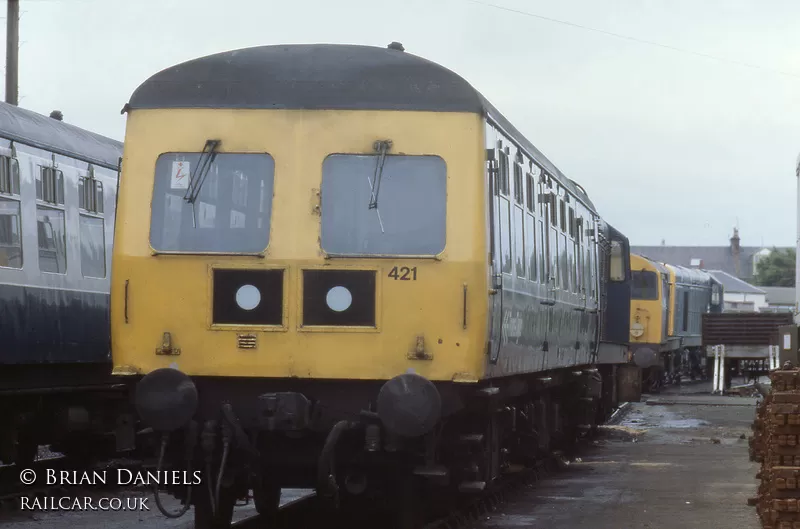
[[[459,83],[398,49],[272,46],[164,70],[126,105],[114,369],[140,378],[162,459],[213,466],[199,527],[250,487],[266,512],[281,486],[335,495],[353,421],[354,452],[419,443],[483,378],[484,121]],[[233,445],[258,462],[231,466]]]

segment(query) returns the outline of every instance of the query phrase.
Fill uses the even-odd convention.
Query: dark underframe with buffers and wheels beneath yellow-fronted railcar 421
[[[378,509],[406,529],[491,491],[513,468],[554,451],[568,457],[615,409],[616,376],[604,365],[480,387],[413,374],[386,383],[197,377],[197,413],[180,427],[162,423],[173,431],[162,434],[159,466],[200,471],[202,483],[166,487],[184,512],[195,506],[197,528],[229,527],[234,503],[250,490],[269,518],[281,488],[312,488],[333,509]]]

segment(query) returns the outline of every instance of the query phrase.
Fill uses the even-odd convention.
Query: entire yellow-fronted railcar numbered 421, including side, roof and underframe
[[[291,486],[413,525],[414,480],[482,490],[509,436],[535,458],[612,409],[627,239],[449,70],[267,46],[166,69],[125,110],[115,373],[161,465],[202,471],[198,527]]]

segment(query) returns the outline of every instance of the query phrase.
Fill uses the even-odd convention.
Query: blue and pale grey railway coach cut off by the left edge
[[[0,461],[130,448],[111,375],[109,271],[122,144],[0,103]]]

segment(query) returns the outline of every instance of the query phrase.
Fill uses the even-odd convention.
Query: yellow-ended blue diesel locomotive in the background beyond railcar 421
[[[704,270],[631,254],[630,348],[647,390],[711,373],[702,315],[723,309],[723,285]]]

